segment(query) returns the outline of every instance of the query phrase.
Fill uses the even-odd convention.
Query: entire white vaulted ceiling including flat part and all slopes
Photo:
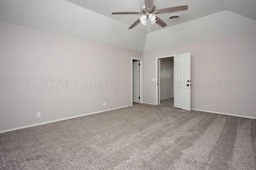
[[[156,9],[188,5],[188,10],[157,16],[167,23],[139,23],[144,0],[0,0],[0,21],[110,45],[151,51],[256,30],[256,0],[154,0]],[[179,14],[178,20],[168,16]],[[168,45],[166,45],[168,44]]]

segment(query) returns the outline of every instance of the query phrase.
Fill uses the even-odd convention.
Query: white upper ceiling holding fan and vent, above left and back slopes
[[[144,5],[144,0],[67,0],[78,6],[97,12],[98,14],[112,18],[126,25],[132,25],[140,15],[111,15],[112,12],[140,12]],[[167,27],[184,23],[187,21],[202,18],[224,10],[238,13],[253,20],[256,20],[256,0],[154,0],[156,9],[168,8],[173,6],[188,5],[188,10],[169,14],[158,14]],[[178,20],[169,20],[171,14],[180,14]],[[135,27],[141,31],[148,32],[147,26],[138,24]],[[157,24],[150,25],[150,31],[163,29]]]

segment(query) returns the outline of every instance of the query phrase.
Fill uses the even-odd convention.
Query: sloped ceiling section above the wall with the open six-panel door
[[[226,10],[148,33],[144,52],[252,33],[255,30],[256,20]]]

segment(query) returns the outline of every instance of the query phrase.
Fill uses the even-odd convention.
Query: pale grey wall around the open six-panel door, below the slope
[[[191,52],[191,107],[256,117],[256,33],[144,53],[144,81],[156,77],[156,57]],[[144,88],[156,104],[156,88]]]

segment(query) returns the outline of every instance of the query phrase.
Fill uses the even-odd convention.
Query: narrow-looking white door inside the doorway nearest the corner
[[[132,61],[132,102],[140,103],[140,61]]]

